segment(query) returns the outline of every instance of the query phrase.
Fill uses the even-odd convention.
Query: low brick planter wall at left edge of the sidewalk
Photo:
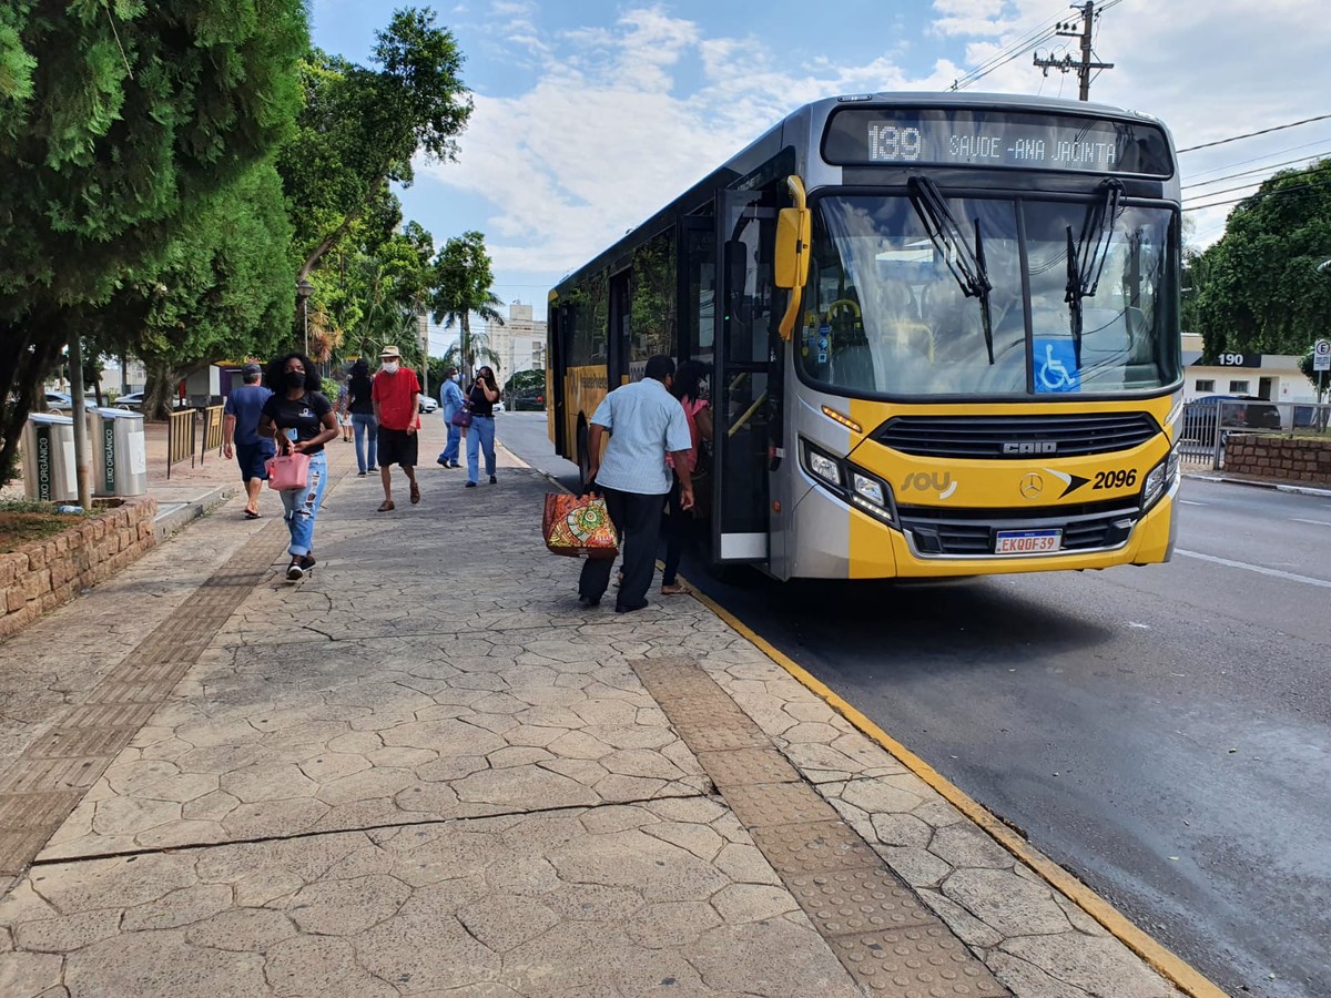
[[[156,547],[156,515],[152,496],[125,499],[63,534],[0,555],[0,639]]]

